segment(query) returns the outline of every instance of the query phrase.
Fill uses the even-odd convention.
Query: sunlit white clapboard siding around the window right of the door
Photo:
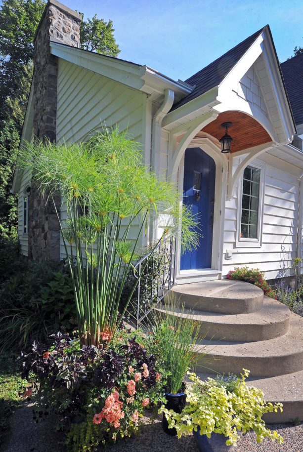
[[[225,205],[223,276],[235,266],[243,265],[259,268],[267,279],[293,274],[291,266],[297,256],[299,221],[298,168],[273,156],[269,160],[266,154],[261,160],[266,163],[261,246],[236,246],[236,190],[236,196]],[[233,252],[231,259],[225,259],[227,249]]]

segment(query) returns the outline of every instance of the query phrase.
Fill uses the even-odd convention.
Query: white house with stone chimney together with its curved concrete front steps
[[[280,65],[267,25],[185,82],[174,81],[82,50],[80,22],[77,12],[48,1],[21,149],[34,136],[76,142],[104,123],[128,128],[145,164],[171,178],[200,214],[198,249],[181,255],[176,244],[173,291],[186,307],[199,305],[208,338],[224,338],[210,346],[212,369],[250,369],[267,400],[283,402],[283,413],[267,420],[303,420],[303,318],[260,288],[224,280],[243,265],[271,282],[287,280],[302,256],[303,55]],[[227,153],[224,129],[233,138]],[[63,258],[54,208],[38,197],[31,174],[17,166],[12,190],[21,252],[36,261]],[[154,222],[142,245],[160,231]]]

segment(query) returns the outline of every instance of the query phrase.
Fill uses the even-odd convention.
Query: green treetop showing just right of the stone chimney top
[[[80,28],[81,48],[95,51],[107,56],[117,56],[120,49],[114,38],[113,22],[98,19],[95,14],[92,19],[82,21]]]

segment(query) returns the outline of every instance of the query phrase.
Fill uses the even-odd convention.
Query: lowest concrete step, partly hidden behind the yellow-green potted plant
[[[202,380],[214,377],[212,374],[199,371],[197,375]],[[282,413],[279,411],[264,415],[266,423],[278,424],[296,418],[303,421],[303,370],[269,378],[249,378],[247,385],[261,389],[267,402],[283,404]]]

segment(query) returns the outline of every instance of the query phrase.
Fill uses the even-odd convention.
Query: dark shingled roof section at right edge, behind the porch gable
[[[303,53],[281,63],[296,124],[303,124]]]

